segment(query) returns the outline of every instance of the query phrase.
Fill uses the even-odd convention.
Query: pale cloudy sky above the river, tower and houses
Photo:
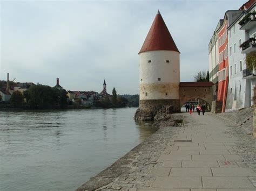
[[[139,94],[139,56],[159,9],[180,51],[181,81],[208,70],[219,19],[246,0],[0,0],[0,80]]]

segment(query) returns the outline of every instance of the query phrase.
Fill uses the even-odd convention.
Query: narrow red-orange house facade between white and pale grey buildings
[[[218,30],[219,44],[219,82],[217,100],[223,102],[221,112],[225,111],[227,88],[228,88],[228,37],[227,17]]]

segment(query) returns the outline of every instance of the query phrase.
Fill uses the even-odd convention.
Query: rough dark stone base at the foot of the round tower
[[[139,109],[134,115],[137,121],[153,121],[161,110],[166,113],[180,112],[180,100],[140,100]]]

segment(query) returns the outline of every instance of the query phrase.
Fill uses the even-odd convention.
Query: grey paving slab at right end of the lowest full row
[[[247,177],[202,177],[204,188],[255,188]]]

